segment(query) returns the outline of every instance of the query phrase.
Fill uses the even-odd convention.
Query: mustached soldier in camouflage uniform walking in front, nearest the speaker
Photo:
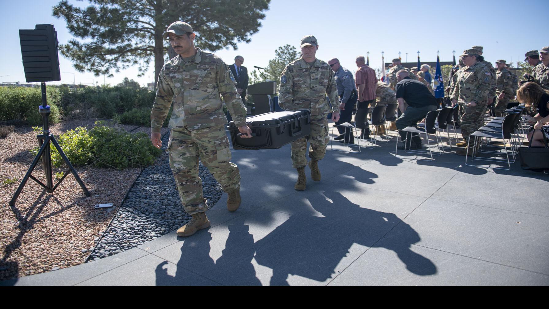
[[[205,214],[207,200],[198,176],[199,159],[228,193],[227,209],[236,211],[240,205],[240,173],[230,162],[221,98],[243,137],[251,137],[251,131],[246,126],[246,109],[231,71],[221,58],[194,47],[191,25],[176,21],[163,36],[169,38],[178,55],[164,64],[158,77],[150,114],[151,141],[155,147],[161,147],[160,129],[173,103],[167,149],[181,203],[192,216],[177,230],[177,235],[186,237],[210,226]]]

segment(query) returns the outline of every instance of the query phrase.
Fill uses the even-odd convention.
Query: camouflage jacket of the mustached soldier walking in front
[[[160,128],[173,101],[169,127],[187,126],[198,130],[227,123],[225,101],[236,126],[245,125],[246,108],[236,89],[231,70],[216,55],[198,48],[194,59],[185,62],[180,55],[164,64],[156,85],[156,98],[150,114],[152,132]]]

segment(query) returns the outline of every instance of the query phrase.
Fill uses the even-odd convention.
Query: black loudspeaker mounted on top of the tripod
[[[57,31],[53,25],[19,29],[21,55],[27,82],[60,81]]]

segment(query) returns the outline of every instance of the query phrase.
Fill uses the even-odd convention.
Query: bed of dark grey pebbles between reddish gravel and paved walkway
[[[164,134],[164,151],[160,158],[154,165],[145,167],[104,236],[94,239],[98,245],[89,248],[89,251],[93,250],[89,261],[144,244],[177,230],[191,220],[191,216],[183,210],[170,169],[166,151],[168,139],[169,134]],[[201,162],[199,176],[203,182],[204,197],[212,207],[221,198],[221,186]],[[82,249],[82,252],[88,252],[88,249]]]

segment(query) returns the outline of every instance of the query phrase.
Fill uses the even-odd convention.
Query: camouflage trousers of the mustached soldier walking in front
[[[218,125],[189,131],[187,127],[172,130],[168,142],[170,167],[181,204],[187,214],[208,210],[198,176],[198,160],[214,175],[223,191],[232,192],[240,186],[240,172],[231,161],[231,150],[225,126]]]

